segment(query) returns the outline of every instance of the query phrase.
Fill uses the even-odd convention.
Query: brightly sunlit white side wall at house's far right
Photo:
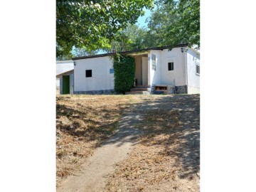
[[[196,60],[200,65],[200,54],[188,48],[186,52],[188,68],[188,94],[200,92],[200,75],[196,74]]]

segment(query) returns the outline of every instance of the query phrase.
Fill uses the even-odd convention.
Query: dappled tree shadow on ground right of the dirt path
[[[199,95],[166,96],[157,98],[151,108],[144,109],[146,137],[141,144],[164,147],[159,154],[176,159],[176,165],[182,167],[178,172],[180,178],[192,179],[200,170],[199,102]]]

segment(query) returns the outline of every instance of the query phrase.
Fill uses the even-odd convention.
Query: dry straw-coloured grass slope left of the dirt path
[[[57,95],[57,185],[80,169],[86,157],[117,129],[134,95]]]

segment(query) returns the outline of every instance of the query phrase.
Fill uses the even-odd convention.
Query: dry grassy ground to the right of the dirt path
[[[199,96],[154,99],[163,102],[144,111],[144,135],[105,191],[199,191]]]

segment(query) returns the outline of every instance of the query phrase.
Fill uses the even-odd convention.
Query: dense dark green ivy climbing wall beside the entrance
[[[129,91],[134,87],[135,60],[129,55],[114,55],[114,91]]]

